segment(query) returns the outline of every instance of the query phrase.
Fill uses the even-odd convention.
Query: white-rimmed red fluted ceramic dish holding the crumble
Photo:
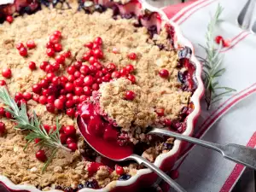
[[[4,3],[10,3],[10,2],[11,1],[4,1]],[[95,0],[95,2],[99,4],[104,4],[104,5],[108,3],[107,0]],[[192,113],[189,113],[189,116],[186,119],[186,130],[183,132],[183,135],[192,136],[194,131],[195,121],[199,116],[199,114],[201,113],[200,99],[204,92],[204,86],[201,80],[201,71],[202,71],[201,63],[197,61],[197,59],[195,58],[193,45],[189,42],[188,39],[183,37],[183,34],[180,28],[175,23],[173,23],[172,20],[168,20],[167,16],[162,10],[150,6],[148,3],[146,3],[143,0],[141,0],[139,3],[136,3],[136,4],[137,6],[131,6],[131,10],[129,10],[130,12],[134,13],[135,15],[142,15],[145,10],[149,10],[151,12],[157,12],[158,14],[160,14],[160,20],[162,20],[161,27],[164,27],[166,23],[174,27],[175,47],[178,48],[178,47],[187,46],[190,49],[192,49],[192,55],[191,55],[190,61],[195,65],[195,79],[197,81],[197,88],[190,99],[190,101],[194,103],[194,110]],[[122,8],[120,8],[119,11],[122,13]],[[127,11],[127,10],[123,10],[123,11]],[[177,160],[177,157],[180,151],[184,148],[185,144],[186,143],[184,142],[175,140],[172,150],[170,150],[166,154],[160,154],[154,161],[154,165],[159,166],[164,171],[170,170],[174,165],[175,161]],[[156,178],[157,177],[154,174],[152,174],[152,172],[149,169],[141,169],[137,171],[137,174],[135,176],[131,177],[127,181],[113,181],[111,183],[108,183],[108,185],[103,189],[81,189],[79,190],[79,192],[134,191],[135,189],[137,189],[138,186],[143,185],[146,181],[147,181],[147,185],[149,183],[154,183]],[[15,185],[9,180],[9,178],[4,176],[0,176],[0,183],[3,183],[11,191],[19,191],[19,192],[41,191],[31,185]],[[56,189],[50,190],[50,192],[54,192],[54,191],[60,191],[60,190],[56,190]]]

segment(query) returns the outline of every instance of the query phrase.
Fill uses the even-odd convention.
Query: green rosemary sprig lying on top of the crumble
[[[37,144],[40,148],[47,147],[51,150],[51,155],[49,159],[44,163],[44,167],[42,172],[49,166],[51,160],[55,157],[55,154],[58,149],[64,149],[66,151],[71,151],[69,148],[66,148],[61,144],[60,139],[60,129],[61,125],[59,125],[58,119],[56,119],[56,130],[50,130],[49,133],[44,130],[43,125],[38,119],[37,114],[33,111],[32,116],[28,117],[26,112],[26,105],[21,104],[20,108],[17,103],[11,96],[9,96],[8,90],[5,87],[0,87],[0,101],[6,106],[5,110],[11,113],[14,117],[14,121],[17,123],[15,125],[15,129],[21,131],[30,131],[28,135],[26,135],[26,149],[29,143],[32,143],[36,138],[40,139],[40,142]]]

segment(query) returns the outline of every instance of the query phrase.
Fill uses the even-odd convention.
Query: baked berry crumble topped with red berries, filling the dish
[[[93,103],[116,128],[119,145],[138,146],[137,154],[152,162],[172,149],[173,138],[146,135],[148,126],[183,132],[193,109],[189,48],[173,48],[169,26],[157,34],[156,26],[143,27],[135,15],[90,1],[16,7],[22,15],[15,18],[6,17],[12,6],[1,8],[0,84],[19,105],[26,103],[28,113],[38,114],[45,131],[55,130],[58,118],[61,143],[72,152],[58,150],[42,172],[51,151],[36,145],[40,139],[26,147],[27,131],[14,129],[2,105],[0,175],[65,191],[99,189],[135,175],[136,164],[114,165],[84,143],[74,122],[83,102]]]

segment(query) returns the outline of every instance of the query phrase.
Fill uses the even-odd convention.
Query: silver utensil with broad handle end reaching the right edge
[[[245,146],[234,144],[234,143],[230,143],[226,145],[210,143],[210,142],[203,141],[201,139],[183,136],[181,134],[178,134],[172,131],[167,131],[167,130],[158,129],[158,128],[153,128],[152,130],[148,131],[148,134],[176,137],[177,139],[181,139],[189,143],[195,143],[203,147],[212,148],[213,150],[216,150],[219,153],[221,153],[224,156],[224,158],[235,161],[236,163],[240,163],[244,166],[247,166],[256,170],[256,149],[254,148],[247,148]]]

